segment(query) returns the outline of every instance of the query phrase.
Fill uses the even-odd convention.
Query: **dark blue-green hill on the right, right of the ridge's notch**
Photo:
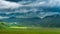
[[[60,15],[47,16],[41,21],[44,27],[60,27]]]

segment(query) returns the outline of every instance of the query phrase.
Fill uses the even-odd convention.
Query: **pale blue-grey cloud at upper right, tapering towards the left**
[[[54,7],[54,6],[59,6],[60,7],[60,0],[42,0],[42,1],[36,1],[33,3],[30,3],[26,6],[31,6],[31,7],[37,7],[37,6],[42,6],[42,7]]]

